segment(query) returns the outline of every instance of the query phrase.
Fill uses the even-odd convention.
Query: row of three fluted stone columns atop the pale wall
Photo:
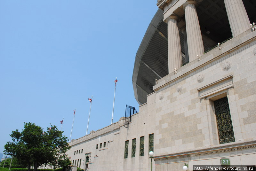
[[[224,3],[233,37],[250,29],[250,21],[245,11],[243,1],[224,0]],[[202,56],[204,52],[196,5],[197,3],[194,0],[186,1],[183,4],[186,19],[186,34],[184,34],[184,36],[187,36],[188,57],[190,62]],[[171,15],[165,19],[165,22],[168,25],[169,74],[173,72],[173,68],[179,69],[182,64],[178,19],[179,18],[175,15]]]

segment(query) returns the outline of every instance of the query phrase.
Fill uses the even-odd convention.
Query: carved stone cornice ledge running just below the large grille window
[[[185,158],[191,158],[194,156],[203,156],[203,155],[209,155],[209,157],[216,153],[223,153],[223,152],[232,152],[232,151],[238,151],[243,149],[250,149],[250,148],[256,148],[256,140],[248,141],[248,142],[242,142],[242,143],[228,143],[228,144],[222,144],[210,148],[203,148],[198,149],[194,151],[187,151],[187,152],[179,152],[179,153],[173,153],[169,155],[162,155],[162,156],[155,156],[154,160],[177,160],[179,159],[182,161],[182,159]],[[255,150],[254,150],[255,151]],[[256,152],[256,151],[255,151]],[[186,160],[186,159],[185,159]]]

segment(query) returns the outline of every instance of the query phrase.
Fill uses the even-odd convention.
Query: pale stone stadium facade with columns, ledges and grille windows
[[[242,0],[217,1],[225,5],[232,35],[223,43],[211,37],[216,29],[205,27],[202,34],[200,21],[207,19],[198,19],[196,11],[207,3],[218,6],[216,1],[157,1],[167,26],[167,35],[156,31],[167,41],[168,74],[162,77],[160,67],[147,64],[160,78],[153,78],[155,85],[142,104],[140,97],[147,90],[137,91],[143,86],[136,74],[143,77],[143,72],[136,67],[146,59],[136,58],[133,86],[139,113],[131,116],[128,128],[123,117],[72,140],[66,153],[72,165],[93,171],[146,171],[149,151],[154,151],[156,171],[182,170],[184,163],[196,170],[193,165],[220,165],[221,159],[230,165],[256,165],[256,31],[250,25],[254,13],[247,14]],[[211,48],[212,42],[217,46]],[[147,74],[144,78],[152,82]]]

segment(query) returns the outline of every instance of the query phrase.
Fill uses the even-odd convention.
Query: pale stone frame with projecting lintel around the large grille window
[[[206,115],[202,118],[204,146],[221,145],[215,116],[214,101],[223,97],[228,98],[235,142],[242,140],[241,131],[239,132],[239,129],[236,129],[237,127],[240,127],[240,124],[234,120],[234,118],[238,117],[237,106],[236,103],[234,103],[236,100],[233,99],[233,97],[232,99],[230,98],[230,96],[234,95],[233,75],[228,75],[197,90],[201,107],[206,108]]]

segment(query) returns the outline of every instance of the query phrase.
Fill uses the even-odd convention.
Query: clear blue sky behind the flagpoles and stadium
[[[0,0],[0,152],[23,122],[71,139],[125,115],[134,59],[157,0]]]

